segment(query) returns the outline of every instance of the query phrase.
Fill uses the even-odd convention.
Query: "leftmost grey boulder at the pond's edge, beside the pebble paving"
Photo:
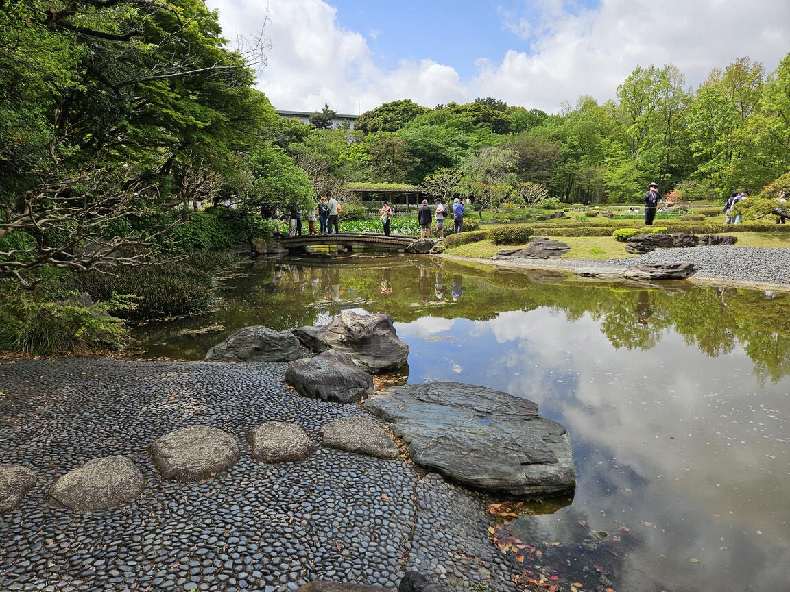
[[[243,327],[205,354],[207,362],[291,362],[303,358],[299,339],[289,331],[260,325]]]

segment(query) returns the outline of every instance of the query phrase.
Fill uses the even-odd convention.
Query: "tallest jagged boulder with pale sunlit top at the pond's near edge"
[[[316,352],[340,351],[371,374],[397,370],[408,358],[408,345],[397,338],[393,317],[344,310],[324,327],[293,329],[305,347]]]

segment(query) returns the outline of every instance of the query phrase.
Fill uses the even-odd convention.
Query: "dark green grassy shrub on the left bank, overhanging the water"
[[[137,307],[121,313],[122,317],[148,320],[204,313],[215,304],[215,281],[208,272],[192,267],[187,261],[165,264],[126,266],[112,274],[92,270],[73,279],[77,290],[97,300],[114,294],[134,294]]]

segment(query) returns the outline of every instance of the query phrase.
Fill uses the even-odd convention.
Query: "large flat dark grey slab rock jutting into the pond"
[[[576,485],[566,429],[532,401],[439,382],[389,388],[364,407],[392,423],[415,463],[473,489],[531,496]]]

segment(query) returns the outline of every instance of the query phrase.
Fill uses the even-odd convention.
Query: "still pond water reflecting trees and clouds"
[[[526,578],[788,589],[790,294],[362,256],[246,262],[220,296],[203,317],[139,328],[141,356],[198,360],[246,325],[386,311],[409,382],[481,384],[565,425],[575,496],[502,528],[528,545]]]

